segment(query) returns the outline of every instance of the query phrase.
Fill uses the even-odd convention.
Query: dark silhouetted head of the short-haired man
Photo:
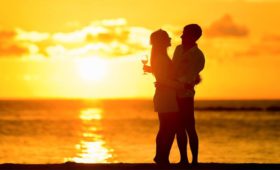
[[[197,24],[189,24],[184,27],[182,38],[182,44],[193,44],[195,43],[202,35],[201,27]]]

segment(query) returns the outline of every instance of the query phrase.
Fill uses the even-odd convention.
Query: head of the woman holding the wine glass
[[[159,29],[151,34],[150,43],[153,47],[167,48],[171,45],[171,38],[166,31]]]

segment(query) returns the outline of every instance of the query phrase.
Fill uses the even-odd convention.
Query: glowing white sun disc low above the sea
[[[79,59],[77,62],[78,76],[84,81],[98,81],[107,73],[106,61],[99,58]]]

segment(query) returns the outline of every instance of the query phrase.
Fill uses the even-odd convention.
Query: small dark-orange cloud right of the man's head
[[[236,24],[230,15],[224,15],[213,22],[205,31],[207,37],[245,37],[249,34],[248,28]]]

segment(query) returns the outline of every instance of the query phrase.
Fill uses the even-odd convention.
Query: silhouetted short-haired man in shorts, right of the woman
[[[172,62],[177,79],[183,83],[195,84],[194,82],[199,77],[199,72],[204,68],[205,58],[196,43],[201,35],[200,26],[197,24],[186,25],[181,36],[182,44],[175,49]],[[198,163],[199,142],[195,129],[194,95],[194,86],[188,87],[185,91],[177,93],[177,102],[179,105],[179,120],[182,120],[180,125],[182,126],[181,128],[185,128],[189,137],[193,158],[192,164],[196,165]],[[177,135],[177,141],[179,148],[187,146],[186,136]],[[181,160],[181,163],[188,164],[187,153],[185,153],[185,160]]]

